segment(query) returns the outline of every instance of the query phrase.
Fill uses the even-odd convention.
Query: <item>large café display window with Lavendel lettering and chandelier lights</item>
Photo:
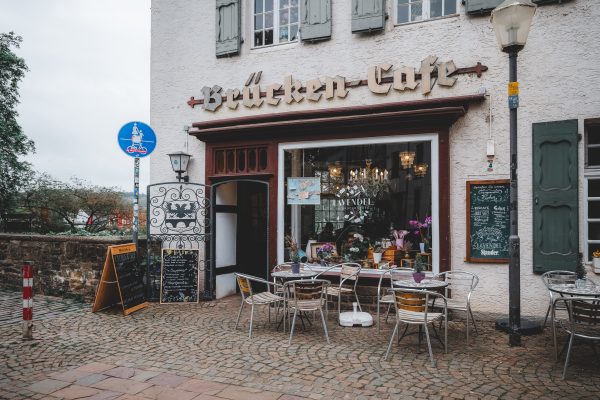
[[[437,270],[437,136],[283,144],[279,182],[280,236],[309,262]]]

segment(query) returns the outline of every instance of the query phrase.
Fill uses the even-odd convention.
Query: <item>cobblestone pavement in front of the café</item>
[[[1,313],[20,305],[20,293],[0,291]],[[449,351],[416,353],[416,338],[394,345],[384,361],[392,324],[342,328],[329,320],[331,345],[320,323],[287,335],[248,313],[235,331],[239,298],[159,305],[124,317],[117,310],[36,297],[33,341],[21,340],[21,323],[0,323],[0,398],[73,399],[597,399],[600,365],[585,344],[574,348],[567,380],[555,362],[549,330],[510,348],[493,322],[465,344],[464,324],[452,322]],[[42,308],[47,305],[55,311]],[[56,311],[58,310],[58,311]],[[62,311],[61,311],[62,310]],[[4,314],[1,314],[4,315]],[[478,316],[476,316],[478,317]],[[479,316],[480,318],[482,316]],[[561,336],[564,339],[564,335]]]

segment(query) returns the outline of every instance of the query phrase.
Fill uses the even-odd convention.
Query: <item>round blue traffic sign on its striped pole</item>
[[[139,227],[140,199],[140,158],[146,157],[156,147],[156,135],[150,126],[143,122],[128,122],[119,130],[117,137],[119,147],[128,156],[134,158],[133,163],[133,221],[131,233],[133,243],[137,245]]]

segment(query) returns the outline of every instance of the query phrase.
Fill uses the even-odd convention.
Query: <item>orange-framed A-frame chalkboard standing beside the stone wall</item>
[[[92,312],[120,304],[123,315],[147,307],[135,244],[109,246]]]

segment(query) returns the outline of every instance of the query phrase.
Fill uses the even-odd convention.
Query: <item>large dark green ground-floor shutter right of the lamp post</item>
[[[575,270],[579,253],[577,120],[533,124],[533,271]]]

